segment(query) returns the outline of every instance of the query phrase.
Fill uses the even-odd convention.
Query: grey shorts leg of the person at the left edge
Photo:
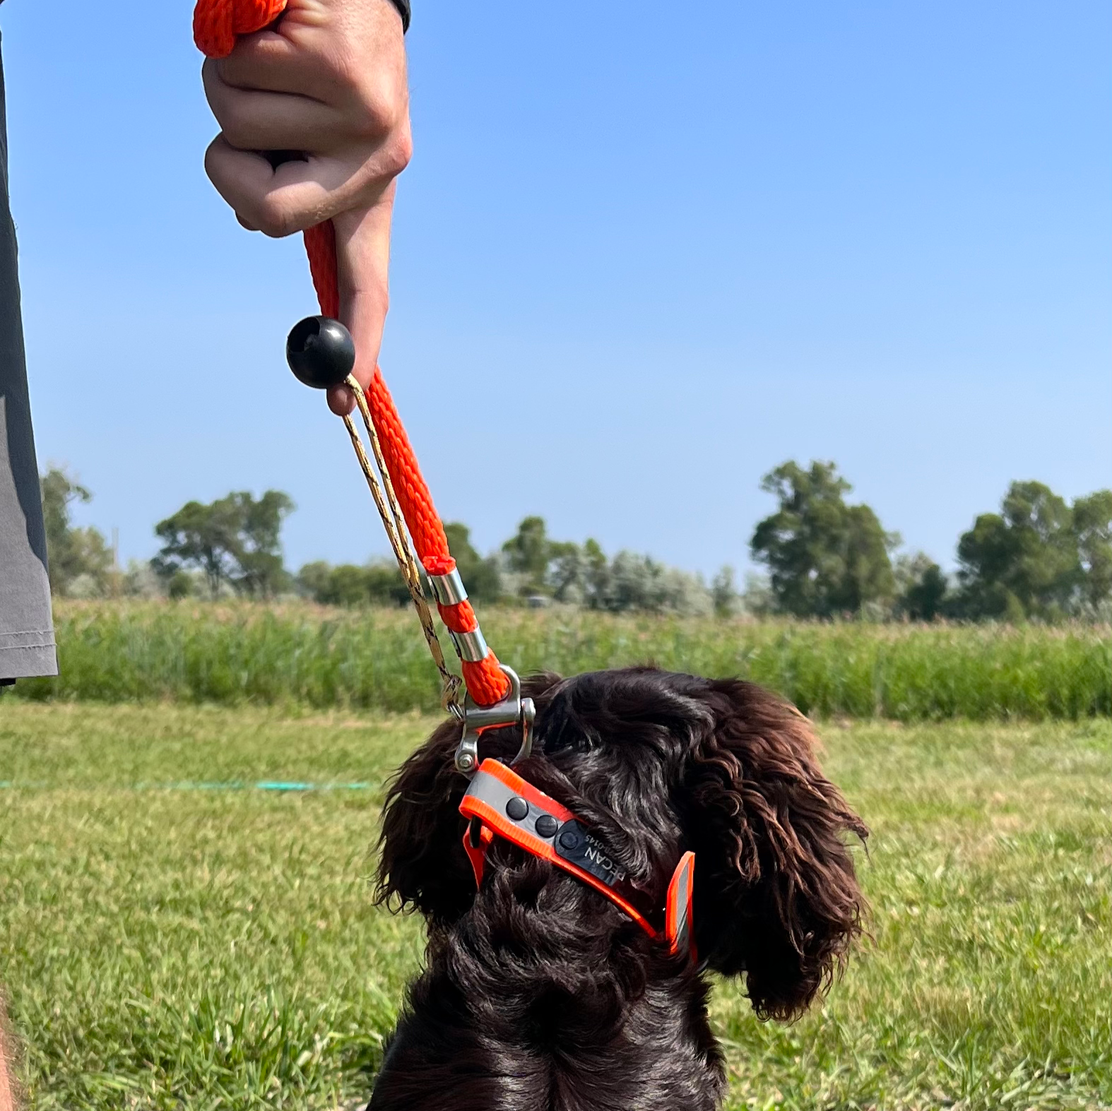
[[[0,681],[57,675],[47,536],[27,393],[0,61]]]

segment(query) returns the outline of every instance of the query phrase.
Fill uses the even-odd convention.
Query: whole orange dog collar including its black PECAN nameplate
[[[679,857],[664,906],[654,907],[566,806],[496,760],[483,761],[459,804],[459,813],[470,820],[464,849],[475,872],[476,887],[483,882],[487,846],[497,834],[594,887],[651,938],[666,941],[673,953],[688,952],[695,959],[694,853]]]

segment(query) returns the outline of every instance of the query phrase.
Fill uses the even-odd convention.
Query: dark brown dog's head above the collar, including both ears
[[[699,956],[746,978],[762,1016],[801,1013],[841,969],[864,897],[846,835],[867,831],[818,768],[806,718],[767,691],[655,668],[537,676],[534,755],[515,771],[587,823],[610,856],[658,891],[695,852]],[[434,928],[475,896],[453,766],[454,723],[400,768],[387,794],[379,895]],[[484,734],[509,760],[515,728]]]

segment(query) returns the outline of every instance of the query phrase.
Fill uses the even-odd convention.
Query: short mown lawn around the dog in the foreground
[[[33,1107],[365,1097],[421,948],[370,904],[381,783],[430,724],[0,701],[0,978]],[[729,1105],[1112,1107],[1112,723],[822,732],[873,829],[876,942],[792,1026],[716,988]],[[370,786],[165,786],[260,780]]]

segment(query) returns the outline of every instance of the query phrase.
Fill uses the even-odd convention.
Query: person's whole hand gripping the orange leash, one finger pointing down
[[[276,23],[206,60],[201,75],[221,129],[205,168],[239,222],[288,236],[332,221],[340,319],[366,388],[388,304],[394,179],[411,151],[397,9],[390,0],[288,0]],[[344,415],[355,398],[336,386],[328,405]]]

